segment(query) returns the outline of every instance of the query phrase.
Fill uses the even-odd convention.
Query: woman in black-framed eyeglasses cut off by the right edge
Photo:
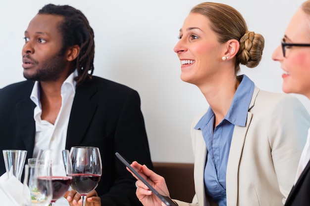
[[[292,17],[281,45],[272,55],[283,69],[282,89],[310,99],[310,0]],[[299,161],[294,186],[285,206],[310,206],[310,130]]]

